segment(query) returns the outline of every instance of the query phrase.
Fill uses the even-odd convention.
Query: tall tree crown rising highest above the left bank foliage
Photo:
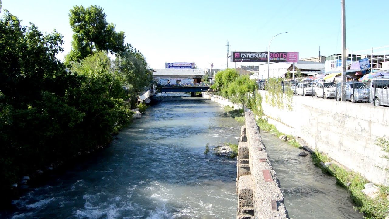
[[[124,32],[116,32],[115,25],[108,23],[103,9],[96,5],[90,7],[74,6],[69,13],[72,28],[72,50],[65,57],[65,64],[79,62],[94,51],[118,53],[124,51]]]

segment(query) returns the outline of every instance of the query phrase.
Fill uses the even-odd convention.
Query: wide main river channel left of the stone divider
[[[222,114],[210,101],[159,102],[5,218],[233,218],[236,161],[204,154],[207,143],[237,142],[242,124]]]

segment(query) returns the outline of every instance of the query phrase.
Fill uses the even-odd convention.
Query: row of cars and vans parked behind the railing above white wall
[[[284,86],[291,88],[296,95],[315,95],[316,97],[336,98],[342,95],[351,102],[373,102],[374,106],[389,106],[389,78],[375,78],[370,83],[347,81],[342,93],[342,83],[338,82],[296,82]]]

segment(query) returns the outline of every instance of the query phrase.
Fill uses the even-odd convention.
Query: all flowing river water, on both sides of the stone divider
[[[237,143],[243,123],[201,97],[161,101],[111,146],[32,188],[1,218],[236,218],[236,160],[204,154]],[[362,218],[345,189],[301,150],[261,133],[291,218]]]

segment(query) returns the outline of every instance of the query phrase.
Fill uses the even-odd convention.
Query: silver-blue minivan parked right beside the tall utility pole
[[[340,101],[342,97],[342,83],[336,85],[337,94],[336,99]],[[370,88],[364,83],[359,81],[347,81],[343,89],[345,99],[351,102],[369,102],[370,100]]]

